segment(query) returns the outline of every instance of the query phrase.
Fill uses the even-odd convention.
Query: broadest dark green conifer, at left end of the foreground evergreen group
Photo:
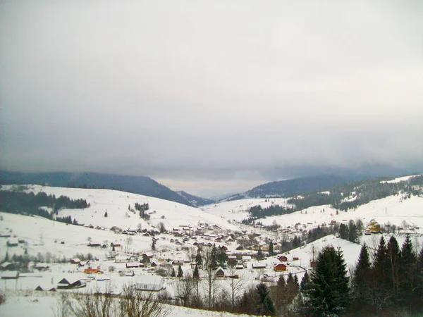
[[[347,306],[348,277],[341,251],[324,247],[317,256],[316,267],[310,274],[305,306],[317,316],[338,314]]]

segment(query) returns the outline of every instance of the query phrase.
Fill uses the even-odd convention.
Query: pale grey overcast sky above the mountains
[[[423,161],[423,1],[1,1],[0,167],[194,194]],[[300,173],[300,172],[298,172]]]

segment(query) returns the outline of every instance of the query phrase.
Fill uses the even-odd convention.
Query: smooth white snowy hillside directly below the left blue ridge
[[[8,189],[16,185],[5,185],[4,189]],[[221,217],[214,216],[210,213],[178,204],[174,201],[147,197],[139,194],[130,194],[128,192],[120,192],[111,189],[83,189],[83,188],[66,188],[66,187],[47,187],[39,185],[28,185],[30,192],[45,192],[46,194],[54,194],[56,197],[61,195],[71,199],[86,199],[90,204],[86,209],[63,209],[59,216],[71,216],[78,223],[84,225],[99,225],[105,228],[111,228],[119,225],[122,228],[137,228],[140,223],[142,228],[150,228],[150,225],[156,225],[163,222],[168,230],[177,228],[179,225],[191,225],[195,228],[198,223],[207,222],[209,225],[219,225],[222,229],[236,230],[234,225],[228,223]],[[135,210],[135,203],[149,204],[147,213],[150,215],[148,223],[142,220],[138,211]],[[128,210],[128,206],[135,213]],[[104,213],[107,211],[107,217]]]

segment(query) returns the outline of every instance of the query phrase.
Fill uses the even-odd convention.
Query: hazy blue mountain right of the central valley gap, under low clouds
[[[335,185],[350,182],[351,180],[353,180],[353,178],[333,175],[295,178],[293,180],[278,180],[276,182],[267,182],[266,184],[259,185],[244,193],[234,194],[231,197],[223,199],[223,201],[233,201],[245,198],[290,197],[313,190],[325,190]]]

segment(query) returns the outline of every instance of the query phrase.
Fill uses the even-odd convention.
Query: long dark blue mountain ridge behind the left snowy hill
[[[188,206],[210,204],[209,199],[188,193],[178,194],[145,176],[123,176],[102,173],[18,173],[0,171],[0,184],[37,184],[53,187],[116,189],[150,197],[176,201]]]

